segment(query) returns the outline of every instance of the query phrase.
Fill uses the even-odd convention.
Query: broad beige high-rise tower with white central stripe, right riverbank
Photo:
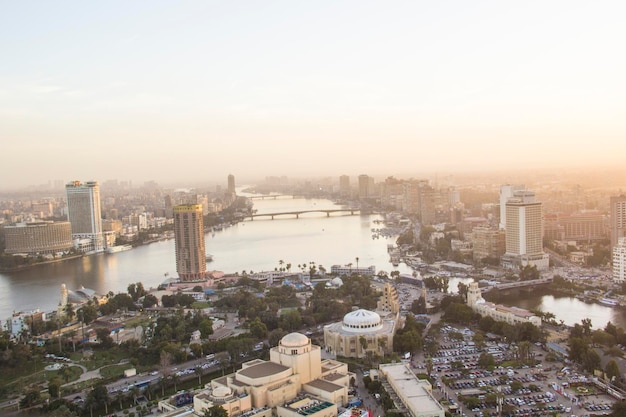
[[[516,191],[506,202],[506,253],[504,262],[515,266],[535,265],[547,269],[543,252],[541,202],[533,191]]]

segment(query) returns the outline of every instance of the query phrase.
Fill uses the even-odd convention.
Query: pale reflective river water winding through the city
[[[262,214],[340,207],[329,200],[280,197],[255,199],[254,208]],[[389,262],[387,245],[395,243],[396,236],[372,237],[371,229],[383,227],[374,223],[380,219],[377,214],[334,213],[327,217],[324,213],[309,213],[300,215],[299,219],[285,215],[274,220],[240,222],[206,235],[206,250],[214,259],[207,269],[226,273],[268,271],[280,267],[282,260],[283,266],[291,264],[292,272],[299,270],[298,265],[306,264],[308,268],[310,262],[315,262],[328,271],[335,264],[352,263],[356,267],[358,263],[360,267],[374,265],[377,271],[410,274],[412,270],[406,265],[393,267]],[[134,282],[142,282],[146,288],[157,287],[168,276],[176,276],[173,240],[0,274],[0,319],[10,317],[13,311],[54,310],[62,284],[70,290],[85,287],[105,294],[126,291]],[[465,280],[450,280],[452,292],[456,292],[459,281]],[[520,307],[553,312],[557,320],[568,325],[589,317],[594,328],[604,327],[608,321],[626,328],[626,317],[621,310],[574,298],[540,296],[518,302]]]

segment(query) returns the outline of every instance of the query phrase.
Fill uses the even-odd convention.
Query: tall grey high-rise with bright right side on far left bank
[[[67,193],[67,219],[72,226],[72,238],[90,240],[81,246],[88,251],[102,251],[102,212],[100,186],[97,181],[72,181],[65,185]]]

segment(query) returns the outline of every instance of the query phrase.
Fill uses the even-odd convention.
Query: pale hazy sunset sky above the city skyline
[[[8,1],[0,188],[624,164],[623,1]]]

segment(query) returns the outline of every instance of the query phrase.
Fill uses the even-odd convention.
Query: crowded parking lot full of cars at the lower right
[[[455,338],[450,337],[454,333]],[[462,340],[457,340],[461,334]],[[608,415],[615,399],[594,388],[590,376],[581,375],[561,362],[546,362],[546,352],[532,346],[532,366],[503,367],[514,359],[514,348],[499,341],[486,341],[480,348],[469,329],[446,326],[438,340],[439,350],[431,358],[435,383],[433,394],[449,410],[464,416],[499,416],[499,409],[520,417]],[[478,364],[481,353],[496,360],[488,369]],[[416,357],[413,366],[426,373],[426,361]],[[467,407],[459,398],[470,404]],[[467,401],[467,398],[470,398]]]

